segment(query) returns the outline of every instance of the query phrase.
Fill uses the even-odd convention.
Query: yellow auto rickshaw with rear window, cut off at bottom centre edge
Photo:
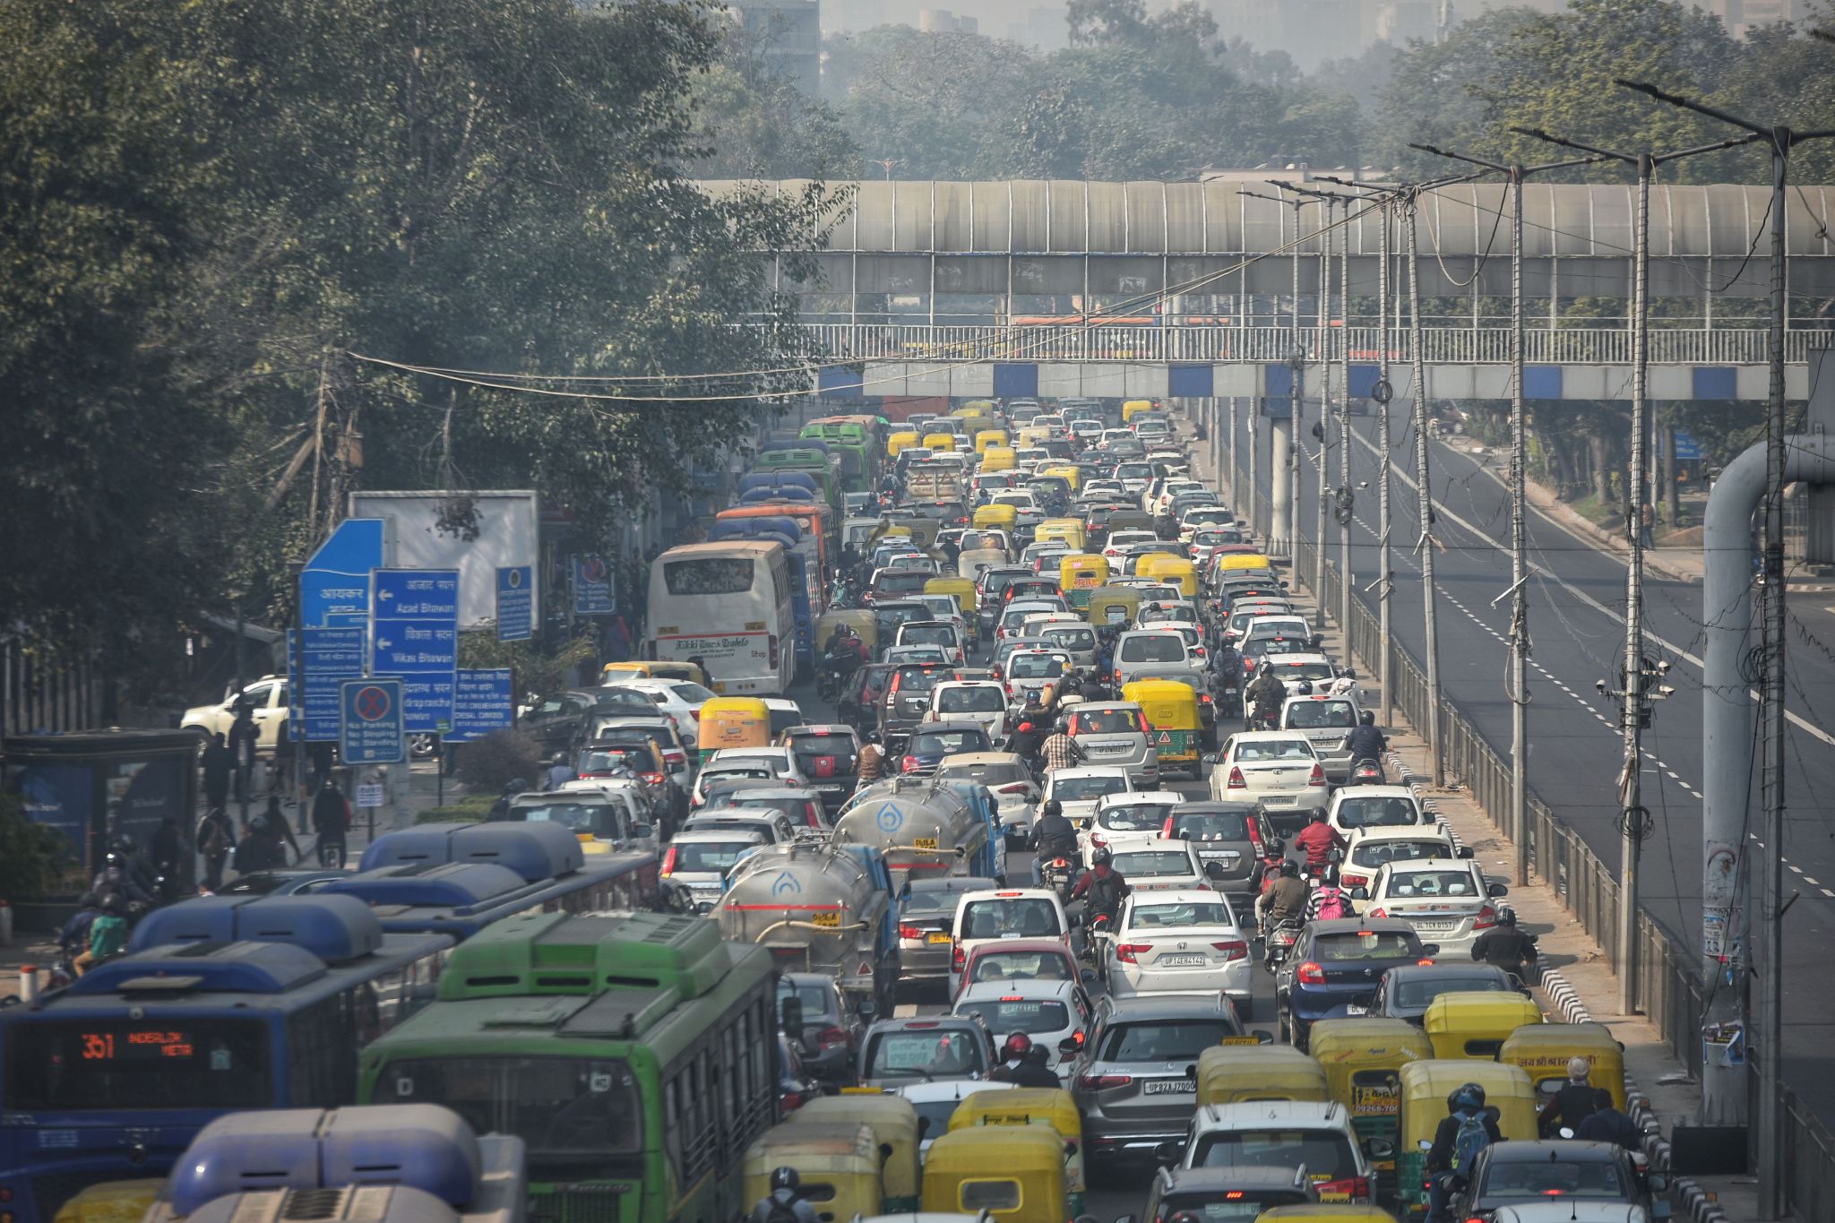
[[[1066,1146],[1068,1139],[1044,1126],[945,1133],[923,1161],[923,1210],[967,1216],[987,1210],[1007,1223],[1064,1223],[1072,1217]]]

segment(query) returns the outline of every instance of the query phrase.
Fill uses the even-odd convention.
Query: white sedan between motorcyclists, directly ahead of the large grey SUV
[[[1250,937],[1209,889],[1136,891],[1108,944],[1108,996],[1217,994],[1250,1014]]]

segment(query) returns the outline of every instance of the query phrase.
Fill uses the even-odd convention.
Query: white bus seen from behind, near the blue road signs
[[[784,545],[690,543],[650,563],[650,656],[706,664],[728,697],[782,695],[796,678],[796,612]]]

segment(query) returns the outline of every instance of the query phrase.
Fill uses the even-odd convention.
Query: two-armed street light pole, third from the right
[[[1543,171],[1591,165],[1574,158],[1545,165],[1503,165],[1433,145],[1409,145],[1439,158],[1501,171],[1510,182],[1510,816],[1516,886],[1529,886],[1529,427],[1523,405],[1523,180]]]

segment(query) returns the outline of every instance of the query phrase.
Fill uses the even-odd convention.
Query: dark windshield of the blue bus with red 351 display
[[[273,1076],[259,1019],[15,1023],[6,1109],[272,1107]]]

